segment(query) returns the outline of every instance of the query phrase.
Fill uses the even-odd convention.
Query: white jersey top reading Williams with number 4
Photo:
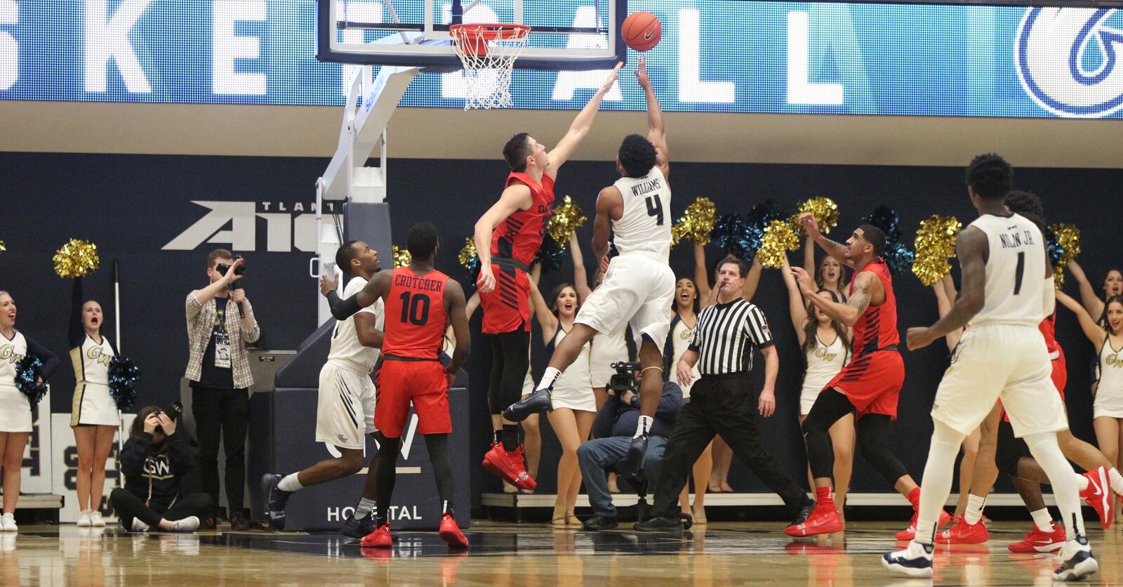
[[[670,255],[670,186],[659,168],[640,178],[620,178],[624,211],[612,222],[612,242],[621,255],[648,253],[664,262]]]

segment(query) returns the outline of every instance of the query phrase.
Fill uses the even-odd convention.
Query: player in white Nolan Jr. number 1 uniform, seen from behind
[[[1057,580],[1083,579],[1098,569],[1084,533],[1079,478],[1057,443],[1066,430],[1065,406],[1053,387],[1049,352],[1038,324],[1053,311],[1052,267],[1038,226],[1010,213],[1005,197],[1013,170],[995,154],[975,157],[967,169],[968,195],[979,217],[959,233],[956,256],[962,291],[931,327],[910,328],[910,350],[969,325],[932,405],[932,442],[924,467],[916,535],[882,563],[912,577],[932,576],[932,543],[942,505],[951,493],[956,457],[964,439],[997,399],[1049,477],[1069,540],[1061,549]]]

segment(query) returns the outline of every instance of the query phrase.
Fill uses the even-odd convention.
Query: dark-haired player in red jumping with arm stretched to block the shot
[[[492,369],[487,387],[495,440],[484,457],[484,468],[521,489],[537,484],[527,475],[519,444],[519,425],[503,418],[503,408],[522,396],[522,381],[530,362],[530,280],[528,273],[554,207],[554,181],[558,169],[588,134],[601,100],[613,88],[623,63],[581,110],[569,130],[547,152],[528,133],[519,133],[503,146],[511,168],[503,195],[475,226],[480,255],[480,307],[483,333],[491,342]]]

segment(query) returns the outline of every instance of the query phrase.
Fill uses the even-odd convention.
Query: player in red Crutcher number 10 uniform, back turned
[[[358,294],[340,300],[336,283],[321,278],[331,315],[347,319],[359,308],[385,301],[386,328],[382,341],[382,367],[376,378],[377,399],[374,425],[378,428],[377,505],[375,531],[363,538],[363,547],[390,548],[391,495],[394,491],[401,436],[410,413],[418,416],[418,434],[424,437],[441,500],[440,538],[451,548],[466,548],[467,539],[456,526],[453,513],[453,468],[448,462],[448,435],[453,421],[448,413],[448,388],[468,356],[468,317],[464,289],[456,280],[437,271],[437,228],[421,223],[410,228],[407,247],[413,256],[409,267],[380,271]],[[456,350],[447,367],[440,364],[445,327],[451,324]]]

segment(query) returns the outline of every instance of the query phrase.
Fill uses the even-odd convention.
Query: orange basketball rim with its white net
[[[511,70],[527,47],[527,25],[453,25],[456,54],[464,65],[467,96],[464,109],[503,108],[511,102]]]

